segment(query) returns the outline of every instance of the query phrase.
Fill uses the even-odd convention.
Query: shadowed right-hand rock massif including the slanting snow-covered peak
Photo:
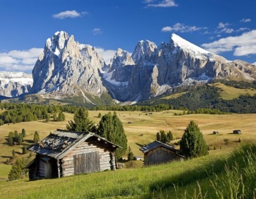
[[[122,79],[114,72],[105,74],[105,79],[111,84],[107,87],[121,101],[136,102],[154,98],[170,88],[207,82],[212,78],[256,79],[256,68],[252,64],[239,60],[228,61],[175,34],[168,44],[159,46],[148,40],[139,41],[132,57],[116,53],[112,62],[114,64],[109,65],[108,72],[127,75]],[[129,70],[125,67],[126,62],[129,62]]]

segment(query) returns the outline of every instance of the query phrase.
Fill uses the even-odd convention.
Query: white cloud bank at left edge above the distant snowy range
[[[0,52],[0,69],[4,71],[32,70],[41,51],[43,49],[32,48],[23,51]]]

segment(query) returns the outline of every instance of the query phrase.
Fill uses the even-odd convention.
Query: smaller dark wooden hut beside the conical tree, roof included
[[[144,153],[145,166],[184,159],[182,155],[177,153],[177,149],[159,141],[151,142],[147,146],[140,148],[140,150]]]

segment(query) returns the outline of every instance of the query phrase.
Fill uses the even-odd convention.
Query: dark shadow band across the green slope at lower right
[[[208,177],[214,176],[215,174],[220,174],[224,172],[225,164],[227,163],[230,168],[232,168],[235,163],[239,164],[239,168],[244,168],[245,163],[243,157],[250,149],[252,150],[252,152],[255,153],[256,144],[246,144],[232,152],[232,154],[229,154],[227,158],[213,159],[207,164],[198,166],[197,168],[191,170],[184,171],[184,173],[174,175],[171,178],[166,176],[165,178],[150,184],[149,189],[151,192],[154,192],[164,190],[168,187],[173,187],[174,185],[185,186],[196,182],[197,180],[203,180]]]

